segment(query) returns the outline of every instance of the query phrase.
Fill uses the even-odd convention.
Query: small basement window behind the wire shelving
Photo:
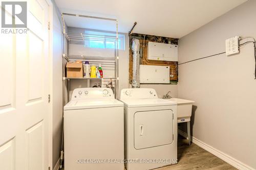
[[[89,48],[115,48],[116,33],[86,30],[85,46]],[[124,50],[124,34],[118,34],[118,49]]]

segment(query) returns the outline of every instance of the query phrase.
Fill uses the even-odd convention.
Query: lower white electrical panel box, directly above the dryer
[[[158,65],[140,65],[140,83],[144,84],[169,84],[170,67]]]

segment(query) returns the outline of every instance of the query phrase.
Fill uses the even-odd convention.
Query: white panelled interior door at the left
[[[27,34],[0,35],[0,169],[49,166],[49,4],[27,3]],[[18,28],[17,28],[18,29]]]

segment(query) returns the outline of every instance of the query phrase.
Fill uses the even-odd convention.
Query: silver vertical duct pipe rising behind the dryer
[[[140,88],[140,41],[138,39],[133,38],[132,41],[132,51],[133,51],[133,88]]]

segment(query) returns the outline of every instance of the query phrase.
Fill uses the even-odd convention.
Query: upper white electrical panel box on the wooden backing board
[[[178,45],[148,42],[148,60],[178,61]]]

